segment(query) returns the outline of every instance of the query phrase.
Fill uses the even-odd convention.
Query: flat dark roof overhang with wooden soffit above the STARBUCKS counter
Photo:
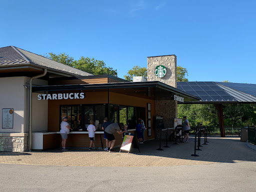
[[[132,96],[138,96],[156,100],[173,100],[173,95],[184,98],[184,101],[199,100],[199,97],[188,94],[175,87],[164,84],[159,81],[142,82],[113,82],[98,84],[70,84],[70,85],[47,85],[33,86],[33,92],[68,92],[72,90],[80,91],[112,91]]]

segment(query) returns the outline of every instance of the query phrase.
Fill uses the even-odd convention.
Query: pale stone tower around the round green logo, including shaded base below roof
[[[165,67],[165,76],[156,76],[155,68],[158,65],[162,65]],[[176,88],[176,65],[176,55],[174,54],[147,57],[147,81],[157,80]],[[155,100],[155,116],[163,116],[165,128],[174,127],[174,118],[177,117],[177,101]]]

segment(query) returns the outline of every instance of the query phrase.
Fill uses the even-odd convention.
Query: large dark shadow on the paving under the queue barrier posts
[[[173,144],[174,141],[168,141],[168,148],[163,147],[166,141],[161,141],[161,148],[163,150],[156,150],[159,148],[159,140],[145,141],[139,144],[140,153],[137,149],[131,149],[131,153],[137,155],[152,155],[162,156],[168,158],[201,160],[210,162],[234,162],[234,161],[256,161],[256,151],[246,146],[246,142],[240,142],[240,137],[208,137],[208,143],[204,143],[201,138],[201,147],[196,150],[199,156],[191,156],[194,154],[194,137],[189,137],[188,143]],[[196,142],[197,149],[197,142]]]

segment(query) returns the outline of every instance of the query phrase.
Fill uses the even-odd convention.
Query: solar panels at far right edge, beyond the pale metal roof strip
[[[216,83],[256,96],[256,84],[235,83],[235,82],[216,82]]]

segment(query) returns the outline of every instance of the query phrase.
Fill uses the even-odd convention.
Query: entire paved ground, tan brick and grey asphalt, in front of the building
[[[194,152],[188,143],[159,148],[158,140],[138,149],[59,148],[0,152],[1,191],[255,191],[256,151],[239,137],[210,137]],[[203,139],[202,139],[203,141]],[[197,144],[197,143],[196,143]],[[202,143],[201,143],[202,144]],[[119,148],[115,148],[118,150]],[[119,151],[119,150],[118,150]]]

